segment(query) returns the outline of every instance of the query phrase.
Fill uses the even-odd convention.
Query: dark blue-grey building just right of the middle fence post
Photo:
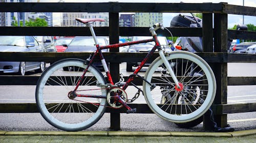
[[[119,17],[120,27],[134,27],[134,14],[121,14]]]

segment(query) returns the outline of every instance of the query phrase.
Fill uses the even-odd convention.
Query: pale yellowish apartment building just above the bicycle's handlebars
[[[135,27],[150,27],[163,23],[163,13],[135,13]]]

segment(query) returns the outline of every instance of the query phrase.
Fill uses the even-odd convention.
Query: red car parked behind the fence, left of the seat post
[[[65,51],[67,49],[69,43],[72,41],[72,39],[73,38],[71,38],[71,37],[56,39],[54,46],[55,46],[57,52]]]

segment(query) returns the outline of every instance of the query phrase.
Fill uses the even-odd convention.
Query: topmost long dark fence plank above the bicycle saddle
[[[193,12],[221,13],[212,3],[0,3],[0,12]]]

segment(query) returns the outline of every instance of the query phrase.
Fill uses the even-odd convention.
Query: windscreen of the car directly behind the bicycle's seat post
[[[105,46],[106,42],[104,38],[97,37],[100,46]],[[95,42],[92,37],[75,37],[69,46],[95,46]]]

